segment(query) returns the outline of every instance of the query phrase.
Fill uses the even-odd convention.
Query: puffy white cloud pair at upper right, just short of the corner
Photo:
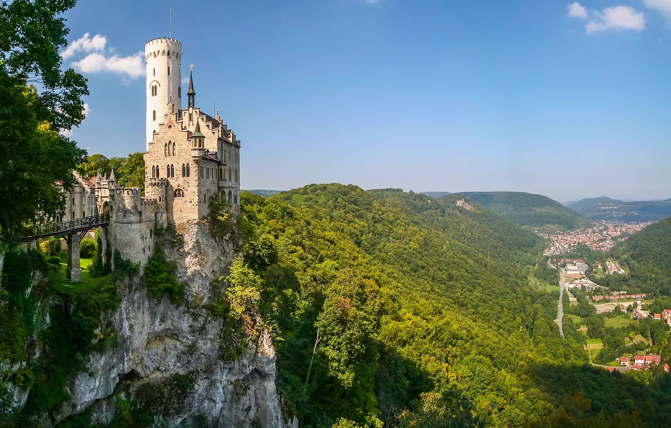
[[[671,0],[646,0],[669,3]],[[670,8],[671,11],[671,8]],[[591,17],[590,17],[591,15]],[[637,32],[646,29],[646,16],[630,6],[605,7],[602,11],[591,11],[577,1],[568,5],[568,16],[588,20],[585,24],[587,34],[606,30],[634,30]]]

